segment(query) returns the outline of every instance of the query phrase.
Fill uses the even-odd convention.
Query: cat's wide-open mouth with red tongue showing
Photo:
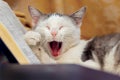
[[[51,49],[52,56],[57,57],[60,54],[62,42],[51,41],[51,42],[49,42],[49,46]]]

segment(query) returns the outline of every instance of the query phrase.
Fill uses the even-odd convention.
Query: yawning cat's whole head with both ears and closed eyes
[[[77,45],[80,40],[80,26],[86,7],[71,15],[59,13],[44,14],[29,6],[34,30],[41,34],[42,46],[55,59],[68,49]]]

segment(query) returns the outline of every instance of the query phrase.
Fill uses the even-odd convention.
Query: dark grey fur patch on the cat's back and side
[[[92,54],[94,54],[95,56],[97,56],[99,64],[101,65],[101,68],[102,68],[104,66],[105,55],[109,54],[110,50],[116,44],[118,44],[119,41],[120,41],[119,33],[96,37],[87,44],[81,59],[83,61],[93,59]],[[118,46],[116,50],[116,56],[115,56],[117,60],[116,64],[120,63],[119,52],[120,52],[120,45]]]

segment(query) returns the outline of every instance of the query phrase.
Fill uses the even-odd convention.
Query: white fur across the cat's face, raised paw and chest
[[[63,28],[59,29],[61,26]],[[51,35],[53,30],[57,32],[54,38]],[[38,59],[44,64],[71,63],[98,68],[98,65],[92,60],[82,62],[81,55],[89,41],[80,40],[80,35],[79,26],[70,17],[52,15],[48,19],[39,20],[36,29],[25,34],[25,40]],[[48,47],[48,42],[53,40],[63,42],[62,51],[58,57],[52,56]]]

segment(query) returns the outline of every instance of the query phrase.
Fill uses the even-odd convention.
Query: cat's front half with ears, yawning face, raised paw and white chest
[[[80,58],[89,42],[80,39],[80,26],[86,7],[82,7],[71,15],[44,14],[32,6],[28,8],[34,28],[24,37],[41,63],[72,63],[98,68],[93,60],[83,63]]]

